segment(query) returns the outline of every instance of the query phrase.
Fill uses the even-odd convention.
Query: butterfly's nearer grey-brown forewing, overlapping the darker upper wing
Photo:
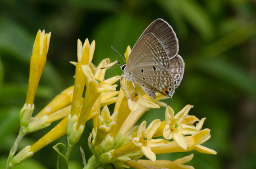
[[[168,69],[170,67],[169,60],[166,51],[155,35],[148,33],[134,45],[127,60],[127,70],[131,71],[138,64],[155,64]]]

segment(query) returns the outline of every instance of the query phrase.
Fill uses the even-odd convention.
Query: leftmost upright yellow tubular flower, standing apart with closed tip
[[[49,49],[51,33],[45,33],[38,30],[36,40],[34,41],[33,52],[30,60],[30,70],[28,79],[28,91],[25,103],[33,104],[36,95],[37,86],[45,68],[46,54]]]

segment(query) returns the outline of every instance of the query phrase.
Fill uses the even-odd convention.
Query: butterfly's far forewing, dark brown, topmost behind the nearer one
[[[138,41],[148,33],[153,33],[155,37],[157,37],[158,41],[163,45],[163,48],[170,59],[178,54],[179,42],[176,37],[176,33],[166,21],[163,19],[157,19],[153,21],[153,23],[147,26],[147,28],[141,34],[140,38],[138,38]],[[136,44],[134,47],[136,47]]]

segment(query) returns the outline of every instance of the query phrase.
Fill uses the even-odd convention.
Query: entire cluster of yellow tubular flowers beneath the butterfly
[[[102,69],[116,62],[111,63],[110,59],[104,59],[98,66],[94,66],[92,59],[95,42],[89,43],[88,39],[85,40],[84,45],[80,40],[77,42],[77,62],[71,62],[76,68],[74,85],[57,95],[32,117],[33,100],[44,69],[49,42],[50,33],[39,31],[31,57],[27,99],[20,110],[21,129],[10,151],[6,168],[12,168],[32,157],[38,150],[65,134],[68,145],[64,157],[68,161],[72,147],[79,141],[85,123],[90,119],[93,121],[93,129],[88,139],[88,146],[93,155],[84,168],[193,168],[184,165],[193,158],[193,154],[175,161],[157,160],[156,154],[191,150],[216,154],[214,150],[201,145],[210,139],[210,130],[202,130],[205,118],[199,120],[194,115],[188,115],[189,110],[193,108],[192,105],[186,105],[175,114],[170,106],[160,101],[166,99],[166,96],[157,94],[156,99],[151,99],[137,84],[133,91],[132,83],[125,83],[124,79],[120,83],[120,91],[116,91],[118,85],[115,83],[119,81],[120,76],[105,79],[106,69]],[[126,59],[130,53],[131,48],[128,47],[125,52]],[[37,69],[33,68],[33,65],[36,65]],[[131,92],[132,96],[130,96]],[[84,97],[83,93],[85,93]],[[115,104],[112,113],[108,108],[110,104]],[[157,109],[160,106],[166,106],[165,121],[155,119],[147,127],[146,121],[135,126],[147,110]],[[16,147],[22,137],[50,126],[51,122],[59,119],[62,119],[59,124],[45,136],[15,155]],[[141,160],[143,155],[148,160]]]

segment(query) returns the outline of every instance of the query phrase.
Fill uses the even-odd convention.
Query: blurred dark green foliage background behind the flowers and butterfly
[[[203,145],[218,154],[172,153],[158,159],[194,153],[188,164],[195,168],[256,168],[256,2],[236,0],[97,0],[97,1],[0,1],[0,166],[18,134],[19,109],[25,102],[29,58],[38,29],[51,32],[47,63],[34,101],[36,114],[51,99],[74,82],[77,39],[96,40],[93,63],[121,54],[157,18],[175,30],[185,61],[183,82],[170,106],[179,112],[194,105],[190,115],[206,117],[203,128],[211,139]],[[106,77],[120,75],[120,68]],[[119,83],[119,82],[118,82]],[[169,100],[166,100],[166,103]],[[113,108],[111,105],[110,108]],[[149,124],[164,119],[164,108],[147,112],[141,119]],[[52,124],[54,126],[57,123]],[[31,145],[51,127],[29,134],[19,146]],[[87,145],[92,122],[71,153],[73,168],[81,168],[79,146],[90,157]],[[55,168],[57,153],[52,146],[67,143],[66,136],[37,152],[15,168]],[[1,168],[0,167],[0,168]]]

